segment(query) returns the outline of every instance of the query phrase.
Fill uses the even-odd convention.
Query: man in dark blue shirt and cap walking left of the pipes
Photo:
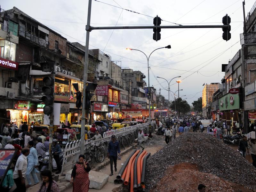
[[[109,176],[113,175],[113,161],[115,165],[115,171],[117,171],[117,168],[116,168],[117,153],[118,153],[118,156],[120,156],[120,145],[119,145],[119,142],[116,141],[116,136],[112,135],[111,140],[112,141],[108,143],[108,158],[110,160],[110,171],[111,171]]]

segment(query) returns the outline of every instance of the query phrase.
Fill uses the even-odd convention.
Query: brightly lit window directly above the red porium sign
[[[0,57],[15,61],[16,44],[8,40],[0,40]]]

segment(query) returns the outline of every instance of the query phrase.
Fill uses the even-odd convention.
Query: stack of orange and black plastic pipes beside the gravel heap
[[[134,149],[118,172],[114,183],[128,185],[130,180],[130,192],[144,191],[146,164],[149,156],[150,153],[147,151]]]

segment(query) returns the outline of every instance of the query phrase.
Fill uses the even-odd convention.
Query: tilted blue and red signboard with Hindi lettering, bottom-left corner
[[[16,155],[16,151],[16,149],[0,150],[0,185],[2,185],[4,177],[12,164],[12,160]]]

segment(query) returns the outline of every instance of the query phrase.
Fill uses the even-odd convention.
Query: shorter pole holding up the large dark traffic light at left
[[[51,77],[54,79],[55,81],[55,62],[54,62],[54,66],[53,66],[53,72],[51,74]],[[54,90],[54,84],[53,84],[53,90]],[[53,105],[54,105],[54,97],[53,97]],[[49,163],[48,163],[48,169],[52,170],[52,132],[53,132],[53,112],[50,116],[50,126],[49,126]]]

